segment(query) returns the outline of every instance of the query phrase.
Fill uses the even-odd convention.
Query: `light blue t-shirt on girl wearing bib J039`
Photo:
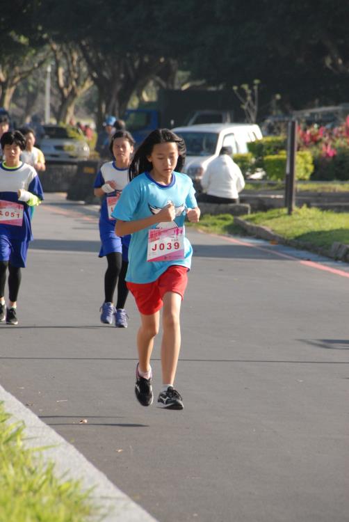
[[[177,209],[184,208],[175,218],[177,226],[184,226],[186,207],[197,207],[193,182],[186,174],[172,173],[168,185],[154,181],[147,172],[138,175],[124,188],[112,216],[122,221],[136,221],[152,216],[154,211],[162,209],[172,202]],[[152,212],[153,210],[153,212]],[[178,212],[178,213],[179,213]],[[170,223],[168,223],[170,225]],[[184,259],[168,261],[147,261],[148,230],[156,224],[134,232],[129,246],[129,267],[126,280],[131,283],[152,283],[172,264],[179,264],[190,269],[193,248],[184,237]]]

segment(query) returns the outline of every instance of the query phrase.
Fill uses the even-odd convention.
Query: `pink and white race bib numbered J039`
[[[147,261],[184,259],[184,228],[151,228],[148,232]]]

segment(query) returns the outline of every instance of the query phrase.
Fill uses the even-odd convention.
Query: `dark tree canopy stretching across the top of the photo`
[[[122,112],[154,78],[175,86],[178,69],[207,88],[258,79],[266,112],[276,93],[284,110],[347,102],[348,15],[342,0],[14,0],[0,14],[0,88],[54,42],[79,49],[99,113]],[[60,79],[67,63],[57,65]]]

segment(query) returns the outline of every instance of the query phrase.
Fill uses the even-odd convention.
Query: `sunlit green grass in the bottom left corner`
[[[24,448],[24,425],[9,419],[0,403],[0,521],[86,522],[97,515],[90,491],[58,480],[54,464],[43,464],[42,450]]]

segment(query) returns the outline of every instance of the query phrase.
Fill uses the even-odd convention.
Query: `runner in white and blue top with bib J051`
[[[20,161],[26,141],[19,132],[6,132],[0,139],[4,161],[0,164],[0,321],[18,324],[17,296],[21,268],[31,233],[31,207],[43,199],[42,187],[35,169]],[[8,269],[9,301],[6,308],[5,283]]]

